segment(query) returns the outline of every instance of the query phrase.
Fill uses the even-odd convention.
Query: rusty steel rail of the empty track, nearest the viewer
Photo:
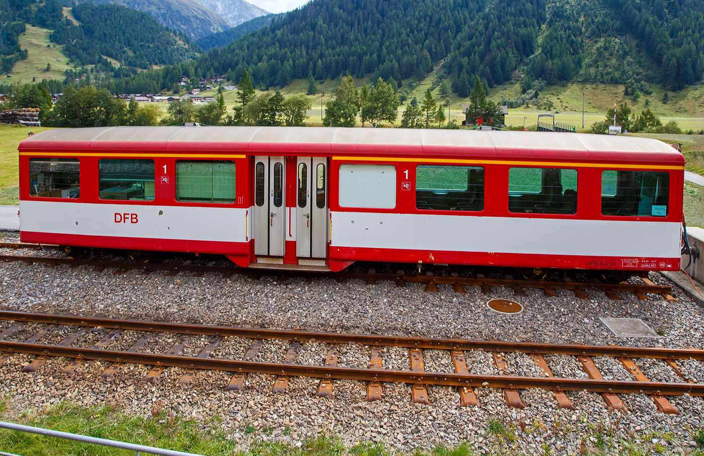
[[[594,393],[644,393],[655,395],[704,396],[704,384],[662,383],[657,381],[620,381],[595,379],[565,379],[560,377],[446,374],[442,372],[410,372],[388,369],[357,369],[353,367],[310,366],[108,351],[94,348],[51,346],[39,343],[0,341],[0,350],[8,353],[27,353],[53,357],[81,357],[83,360],[132,362],[142,365],[163,365],[187,369],[220,370],[270,375],[308,376],[325,379],[383,381],[406,384],[472,386],[474,388],[543,388],[562,391],[591,391]],[[161,364],[158,364],[161,363]]]

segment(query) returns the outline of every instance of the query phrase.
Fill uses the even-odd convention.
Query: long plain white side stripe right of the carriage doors
[[[332,222],[333,247],[627,258],[679,258],[681,229],[678,222],[363,212],[332,212]]]

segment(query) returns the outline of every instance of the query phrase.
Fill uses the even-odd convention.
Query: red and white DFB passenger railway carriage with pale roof
[[[684,158],[653,139],[105,127],[42,132],[19,150],[25,242],[318,271],[679,269]]]

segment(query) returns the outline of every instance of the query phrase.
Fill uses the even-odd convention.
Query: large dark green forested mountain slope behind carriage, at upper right
[[[489,86],[591,80],[660,83],[702,79],[704,0],[314,0],[270,27],[199,59],[203,71],[285,85],[350,74],[400,81],[444,61]]]

